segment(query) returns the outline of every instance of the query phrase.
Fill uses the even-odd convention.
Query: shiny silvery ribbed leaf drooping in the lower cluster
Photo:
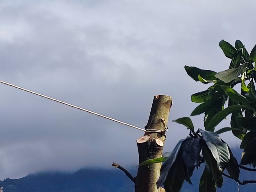
[[[222,172],[230,157],[227,143],[224,143],[217,133],[204,131],[202,129],[199,129],[199,131],[202,133],[202,138],[207,147],[212,152],[212,156],[217,162],[218,169]]]

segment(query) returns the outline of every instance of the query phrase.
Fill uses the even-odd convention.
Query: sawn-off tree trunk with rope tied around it
[[[165,131],[167,131],[167,122],[172,98],[167,95],[156,95],[153,100],[148,124],[145,129],[148,132],[144,136],[150,138],[145,142],[137,142],[139,152],[139,164],[163,154],[163,144],[165,141]],[[159,130],[159,131],[153,131]],[[141,141],[141,139],[138,139]],[[143,140],[143,139],[142,139]],[[159,141],[160,140],[160,141]],[[163,143],[161,143],[161,141]],[[136,192],[158,192],[164,191],[163,188],[157,189],[156,181],[160,176],[161,163],[139,166],[135,181]]]

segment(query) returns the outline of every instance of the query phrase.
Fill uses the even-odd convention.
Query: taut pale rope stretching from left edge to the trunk
[[[70,107],[73,107],[73,108],[80,109],[80,110],[82,110],[82,111],[91,113],[91,114],[93,114],[93,115],[97,115],[97,116],[106,118],[106,119],[108,119],[108,120],[115,121],[115,122],[117,122],[117,123],[124,124],[124,125],[127,125],[127,126],[129,126],[129,127],[133,127],[133,128],[135,128],[135,129],[139,129],[139,130],[141,130],[141,131],[146,132],[145,129],[141,129],[140,127],[136,127],[136,126],[134,126],[134,125],[131,125],[131,124],[128,124],[128,123],[124,123],[124,122],[122,122],[122,121],[119,121],[119,120],[110,118],[110,117],[108,117],[108,116],[104,116],[104,115],[101,115],[101,114],[99,114],[99,113],[95,113],[95,112],[90,111],[90,110],[88,110],[88,109],[84,109],[84,108],[81,108],[81,107],[77,107],[77,106],[75,106],[75,105],[71,105],[71,104],[69,104],[69,103],[66,103],[66,102],[63,102],[63,101],[60,101],[60,100],[57,100],[57,99],[53,99],[53,98],[48,97],[48,96],[46,96],[46,95],[43,95],[43,94],[40,94],[40,93],[37,93],[37,92],[33,92],[33,91],[28,90],[28,89],[24,89],[24,88],[22,88],[22,87],[19,87],[19,86],[10,84],[10,83],[6,83],[6,82],[1,81],[1,80],[0,80],[0,83],[6,84],[6,85],[9,85],[9,86],[12,86],[12,87],[15,87],[15,88],[20,89],[20,90],[22,90],[22,91],[26,91],[26,92],[29,92],[29,93],[32,93],[32,94],[35,94],[35,95],[44,97],[44,98],[46,98],[46,99],[53,100],[53,101],[62,103],[62,104],[64,104],[64,105],[68,105],[68,106],[70,106]]]

